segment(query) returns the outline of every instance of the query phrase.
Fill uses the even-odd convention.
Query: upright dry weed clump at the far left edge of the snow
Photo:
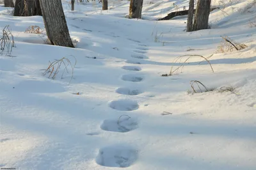
[[[6,56],[11,56],[12,48],[15,47],[14,38],[12,35],[12,29],[10,26],[5,26],[3,29],[3,36],[0,39],[0,54],[3,54],[3,51],[7,49]]]

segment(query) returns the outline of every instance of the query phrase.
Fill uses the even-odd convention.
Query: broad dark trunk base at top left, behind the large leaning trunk
[[[41,15],[39,0],[16,0],[14,6],[14,16],[33,16]]]

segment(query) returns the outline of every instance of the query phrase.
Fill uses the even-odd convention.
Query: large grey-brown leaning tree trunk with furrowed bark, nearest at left
[[[45,30],[52,45],[74,47],[61,0],[40,0]]]

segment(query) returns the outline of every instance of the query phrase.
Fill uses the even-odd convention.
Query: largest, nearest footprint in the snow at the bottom
[[[101,148],[96,162],[106,167],[129,167],[138,158],[138,151],[127,145],[115,144]]]

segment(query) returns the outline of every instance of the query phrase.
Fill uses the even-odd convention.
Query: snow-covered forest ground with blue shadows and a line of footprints
[[[188,0],[145,1],[142,20],[125,18],[127,1],[109,1],[104,12],[97,1],[74,12],[63,1],[71,49],[24,33],[43,28],[42,17],[12,17],[2,4],[0,29],[10,25],[16,47],[0,56],[0,167],[256,169],[256,2],[212,5],[221,7],[211,12],[212,29],[186,33],[186,16],[156,19]],[[220,36],[248,47],[216,52]],[[187,54],[213,54],[214,73],[193,57],[161,76]],[[63,57],[76,58],[73,74],[68,67],[61,79],[61,66],[54,80],[42,75]],[[215,90],[189,93],[190,81]]]

